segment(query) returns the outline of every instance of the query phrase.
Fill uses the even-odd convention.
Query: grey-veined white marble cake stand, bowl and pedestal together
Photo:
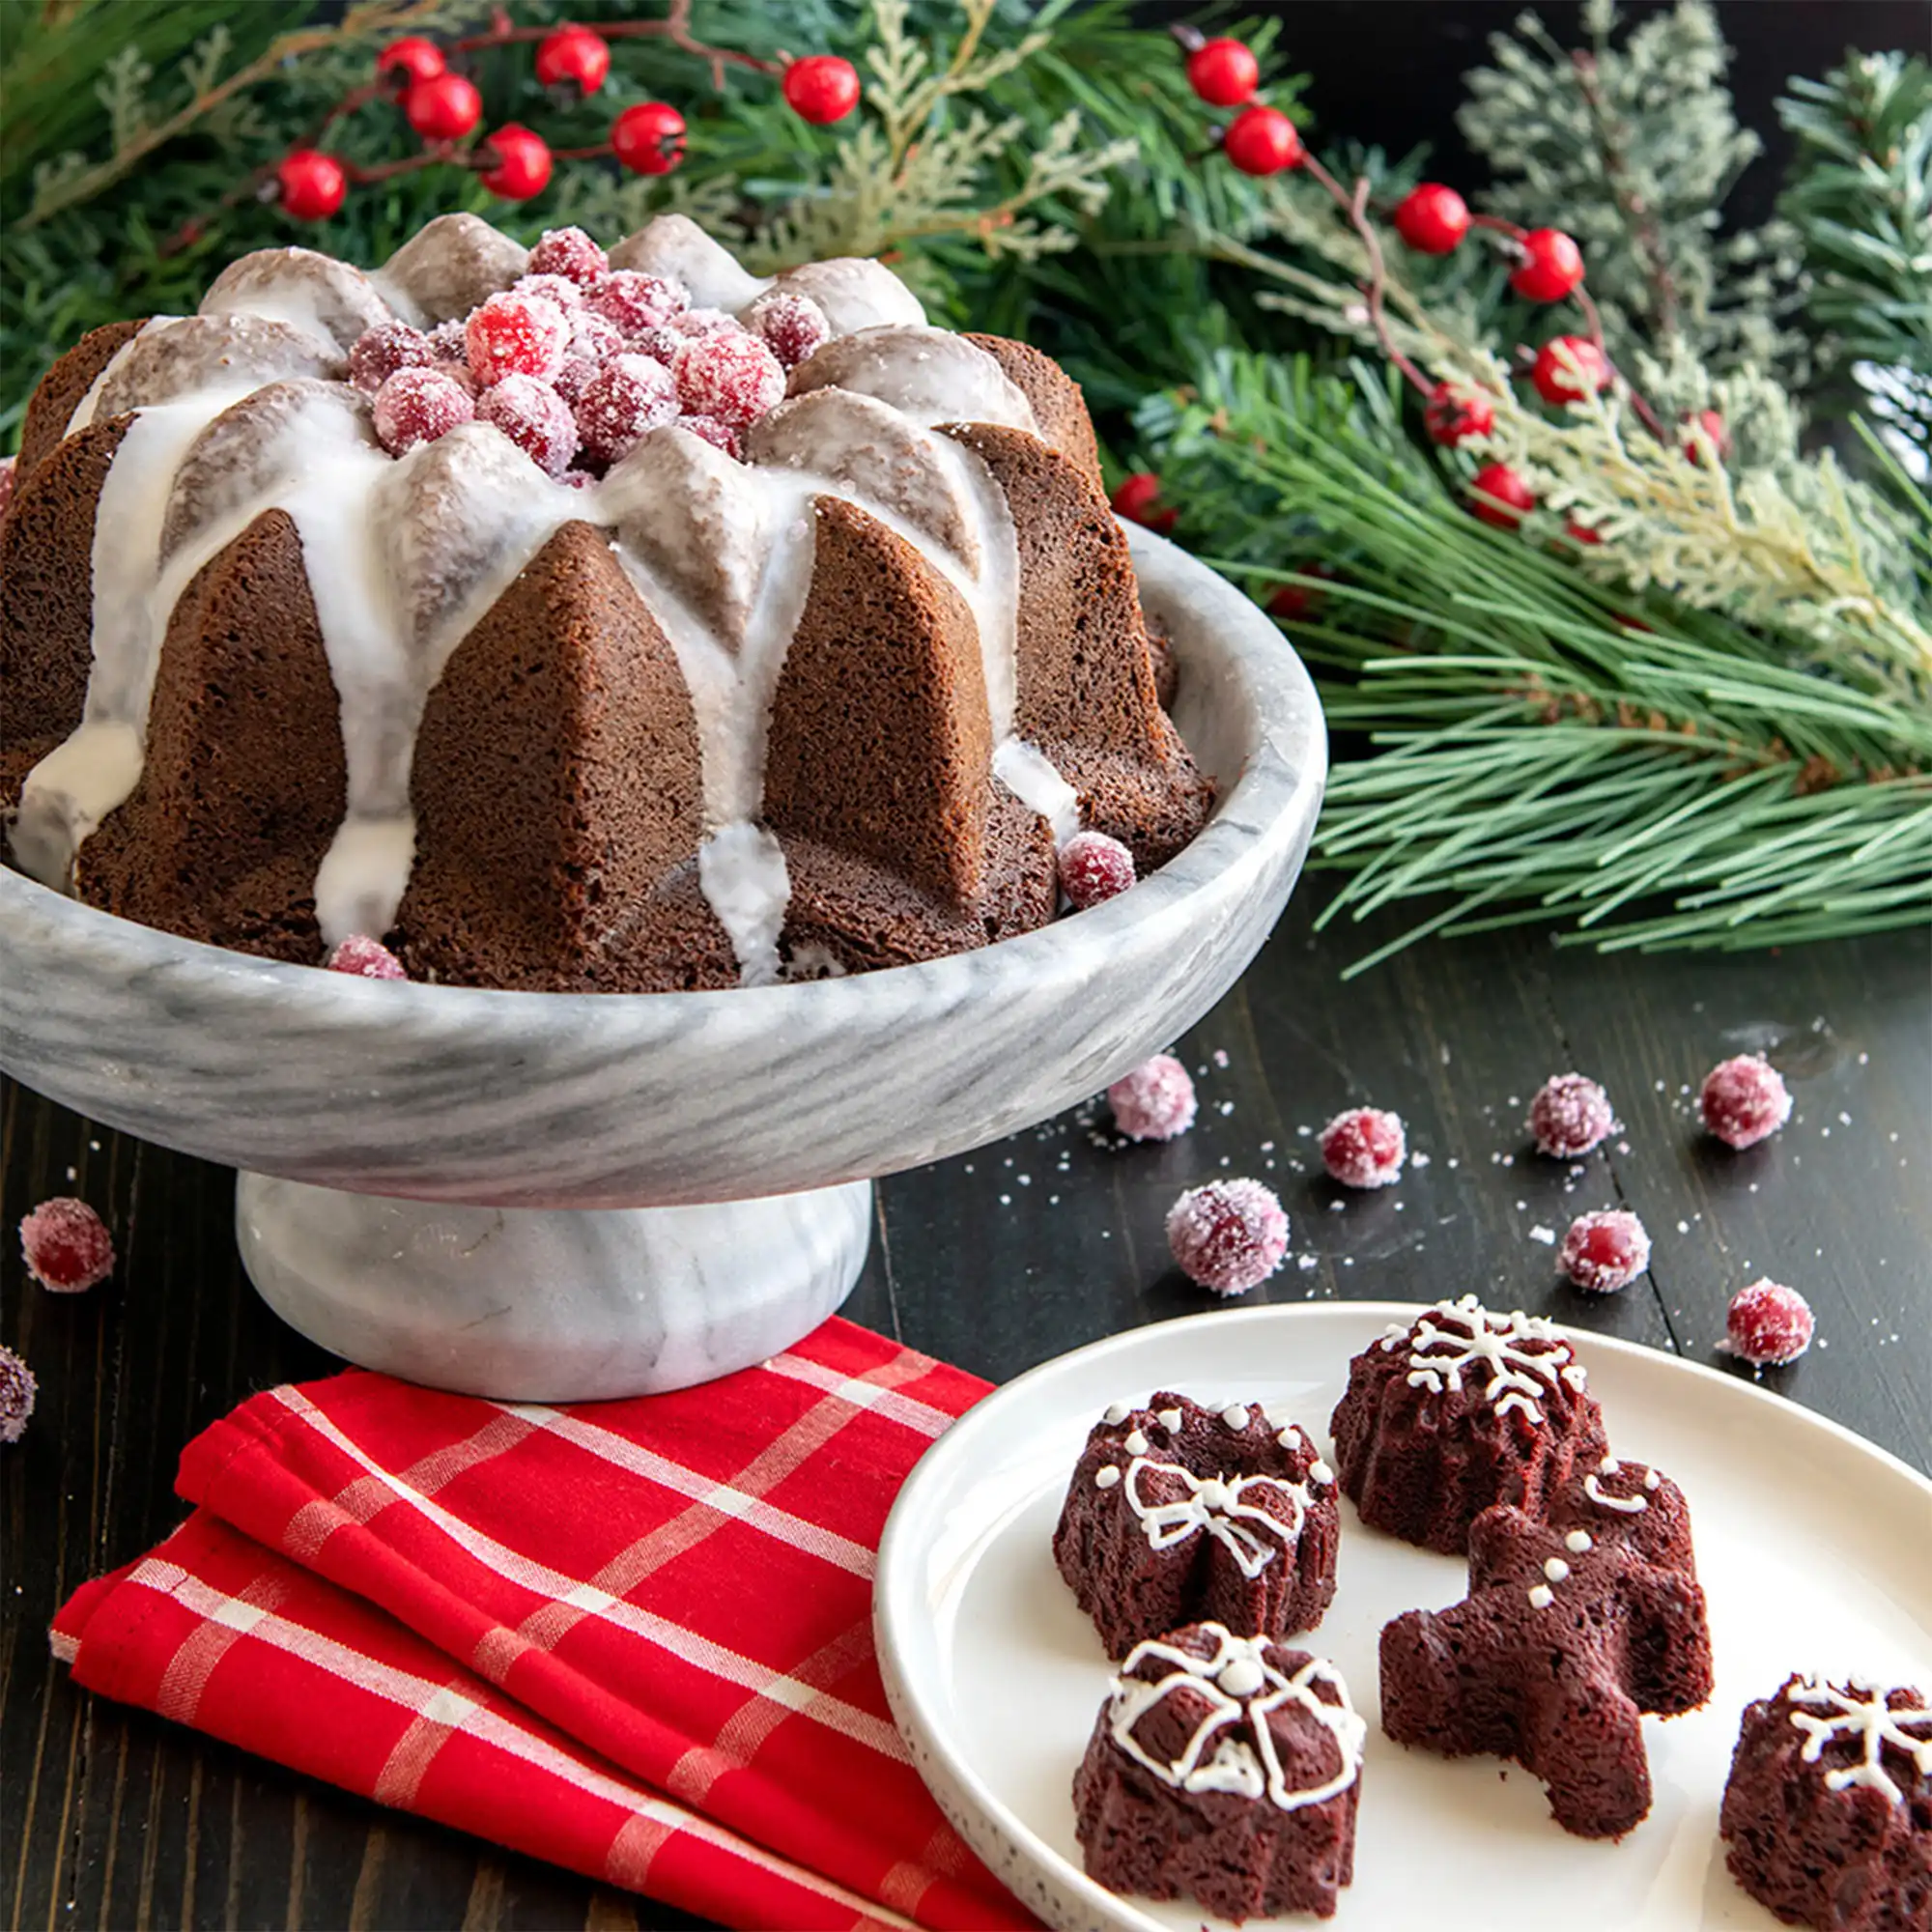
[[[835,1310],[871,1177],[997,1140],[1192,1026],[1275,923],[1321,802],[1275,626],[1132,531],[1221,781],[1132,893],[981,952],[723,993],[489,993],[193,945],[0,871],[0,1063],[242,1169],[255,1287],[336,1354],[506,1401],[684,1387]]]

